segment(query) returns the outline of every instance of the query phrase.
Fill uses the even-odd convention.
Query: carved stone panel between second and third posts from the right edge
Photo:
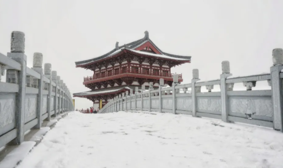
[[[220,97],[197,97],[198,112],[206,112],[212,114],[221,114],[221,98]]]

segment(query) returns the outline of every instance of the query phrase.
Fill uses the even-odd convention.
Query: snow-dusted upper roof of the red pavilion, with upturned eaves
[[[99,57],[95,57],[89,60],[84,60],[84,61],[78,61],[75,62],[76,66],[80,66],[80,65],[85,65],[85,64],[90,64],[92,62],[96,62],[99,61],[101,59],[104,58],[108,58],[111,56],[114,56],[116,54],[119,54],[120,52],[122,52],[124,49],[125,50],[129,50],[131,52],[137,53],[137,54],[142,54],[145,56],[154,56],[154,57],[159,57],[159,58],[165,58],[165,59],[172,59],[172,60],[177,60],[177,61],[191,61],[191,56],[179,56],[179,55],[174,55],[174,54],[169,54],[169,53],[165,53],[163,51],[161,51],[150,39],[149,39],[149,35],[148,32],[145,32],[146,36],[143,39],[139,39],[137,41],[125,44],[123,46],[117,47],[117,49],[113,49],[110,52],[99,56]],[[161,54],[153,54],[153,53],[149,53],[149,52],[143,52],[143,51],[136,51],[135,49],[138,48],[139,46],[142,46],[143,44],[150,42]]]

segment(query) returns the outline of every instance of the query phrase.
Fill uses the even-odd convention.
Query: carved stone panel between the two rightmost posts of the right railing
[[[231,96],[229,115],[272,121],[271,96]]]

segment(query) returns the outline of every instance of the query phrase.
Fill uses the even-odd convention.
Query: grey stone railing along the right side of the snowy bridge
[[[99,113],[119,110],[146,110],[189,114],[194,117],[209,117],[225,122],[242,122],[272,127],[283,132],[283,50],[274,49],[273,64],[270,74],[245,77],[231,77],[228,61],[222,62],[220,80],[199,82],[198,69],[193,70],[190,84],[179,85],[177,76],[173,78],[173,86],[135,93],[130,90],[107,103]],[[252,90],[257,81],[267,81],[271,90]],[[234,83],[243,83],[246,90],[233,91]],[[153,83],[151,83],[152,85]],[[220,85],[220,92],[211,92],[214,85]],[[208,92],[201,92],[206,87]],[[188,91],[191,89],[191,91]]]

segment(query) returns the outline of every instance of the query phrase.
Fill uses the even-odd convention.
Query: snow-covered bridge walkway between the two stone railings
[[[189,115],[70,112],[18,166],[283,167],[283,133]]]

